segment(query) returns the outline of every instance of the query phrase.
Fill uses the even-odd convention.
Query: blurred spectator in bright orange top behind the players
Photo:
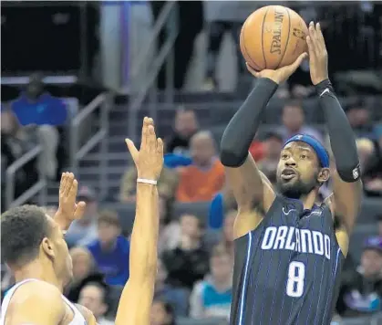
[[[211,201],[222,190],[224,167],[216,157],[215,143],[209,131],[200,131],[191,139],[192,164],[180,170],[177,200]]]

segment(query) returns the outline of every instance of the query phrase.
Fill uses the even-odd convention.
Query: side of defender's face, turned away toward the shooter
[[[73,265],[72,258],[69,255],[69,250],[67,248],[67,242],[65,241],[64,233],[57,223],[48,215],[49,222],[52,224],[53,231],[50,239],[53,243],[53,267],[57,278],[62,279],[64,285],[73,278]]]

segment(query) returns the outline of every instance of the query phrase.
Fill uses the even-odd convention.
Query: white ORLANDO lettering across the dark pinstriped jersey
[[[280,225],[265,228],[261,248],[284,249],[330,259],[330,237],[315,230]]]

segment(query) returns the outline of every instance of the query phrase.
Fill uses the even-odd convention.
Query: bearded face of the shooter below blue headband
[[[320,168],[313,148],[305,142],[284,146],[277,165],[277,185],[281,194],[299,199],[329,178],[327,168]]]

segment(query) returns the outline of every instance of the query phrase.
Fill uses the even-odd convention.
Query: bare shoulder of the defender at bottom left
[[[58,325],[64,317],[61,292],[42,281],[30,281],[15,291],[6,312],[6,324]]]

